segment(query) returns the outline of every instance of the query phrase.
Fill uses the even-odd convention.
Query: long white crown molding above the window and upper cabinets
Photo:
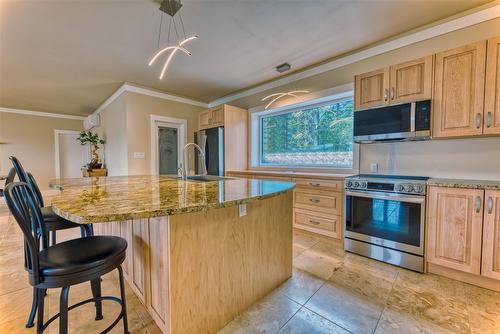
[[[355,52],[353,54],[340,57],[337,59],[334,59],[332,61],[323,63],[321,65],[314,66],[312,68],[309,68],[307,70],[297,72],[295,74],[290,74],[286,77],[283,77],[281,79],[276,79],[273,81],[270,81],[268,83],[258,85],[256,87],[243,90],[241,92],[237,92],[234,94],[229,94],[224,97],[221,97],[219,99],[216,99],[214,101],[211,101],[208,104],[209,108],[228,103],[230,101],[234,101],[237,99],[241,99],[250,95],[258,94],[261,92],[264,92],[266,90],[278,88],[280,86],[290,84],[292,82],[309,78],[314,75],[318,75],[324,72],[328,72],[331,70],[334,70],[336,68],[346,66],[373,56],[377,56],[379,54],[389,52],[392,50],[396,50],[411,44],[415,44],[433,37],[441,36],[456,30],[460,30],[463,28],[467,28],[473,25],[476,25],[478,23],[482,23],[485,21],[489,21],[492,19],[495,19],[497,17],[500,17],[500,4],[494,5],[492,7],[479,10],[477,12],[458,17],[455,19],[452,19],[450,21],[444,22],[437,24],[435,26],[425,28],[423,30],[408,34],[406,36],[402,36],[396,39],[393,39],[391,41],[381,43],[378,45],[375,45],[371,48],[361,50],[359,52]]]

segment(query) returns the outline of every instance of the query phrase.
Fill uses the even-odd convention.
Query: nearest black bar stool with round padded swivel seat
[[[5,200],[24,234],[25,267],[29,282],[38,295],[37,334],[41,334],[59,318],[59,333],[68,333],[68,311],[94,302],[96,320],[102,319],[102,301],[121,305],[118,317],[102,332],[107,333],[123,319],[128,334],[125,287],[121,264],[125,260],[127,241],[115,236],[89,236],[48,246],[48,237],[40,206],[33,190],[24,182],[10,183],[5,188]],[[101,276],[118,269],[121,298],[101,296]],[[69,288],[91,282],[93,298],[68,306]],[[62,288],[59,313],[44,323],[44,295],[47,289]]]

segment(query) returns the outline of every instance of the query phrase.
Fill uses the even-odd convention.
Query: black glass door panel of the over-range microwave
[[[410,131],[411,105],[403,104],[354,112],[354,135]]]

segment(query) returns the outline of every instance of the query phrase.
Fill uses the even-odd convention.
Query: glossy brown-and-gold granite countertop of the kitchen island
[[[229,207],[277,196],[291,182],[228,178],[183,181],[168,176],[114,176],[58,179],[62,190],[52,199],[54,212],[75,223],[90,224],[176,215]]]

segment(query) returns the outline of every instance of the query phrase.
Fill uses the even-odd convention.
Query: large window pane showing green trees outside
[[[352,168],[353,100],[262,116],[261,164]]]

